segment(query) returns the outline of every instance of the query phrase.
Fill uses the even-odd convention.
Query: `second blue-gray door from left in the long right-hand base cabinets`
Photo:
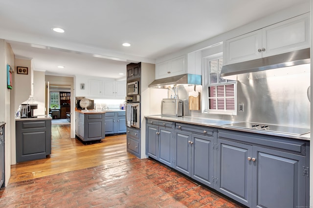
[[[173,131],[172,129],[167,129],[164,127],[159,127],[159,139],[158,139],[158,144],[159,144],[159,157],[158,160],[161,163],[164,163],[170,167],[173,167],[172,165],[172,151],[171,147],[173,147]]]

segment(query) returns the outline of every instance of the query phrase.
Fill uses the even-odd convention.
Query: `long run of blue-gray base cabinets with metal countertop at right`
[[[150,158],[247,207],[309,207],[310,133],[190,116],[145,117]]]

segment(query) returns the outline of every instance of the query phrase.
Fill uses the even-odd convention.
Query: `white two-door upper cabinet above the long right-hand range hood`
[[[224,41],[224,65],[310,48],[310,14]]]

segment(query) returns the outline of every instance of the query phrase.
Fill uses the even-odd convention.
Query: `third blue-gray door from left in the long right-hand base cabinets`
[[[191,176],[191,133],[175,130],[175,169]]]

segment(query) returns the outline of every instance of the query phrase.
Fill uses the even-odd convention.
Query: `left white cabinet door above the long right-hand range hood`
[[[262,57],[262,32],[257,30],[226,40],[224,43],[224,64],[232,64]]]

